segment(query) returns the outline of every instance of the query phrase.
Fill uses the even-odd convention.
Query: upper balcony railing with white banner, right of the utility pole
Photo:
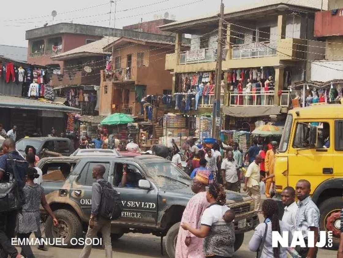
[[[276,42],[253,42],[232,46],[232,59],[254,58],[276,55]]]

